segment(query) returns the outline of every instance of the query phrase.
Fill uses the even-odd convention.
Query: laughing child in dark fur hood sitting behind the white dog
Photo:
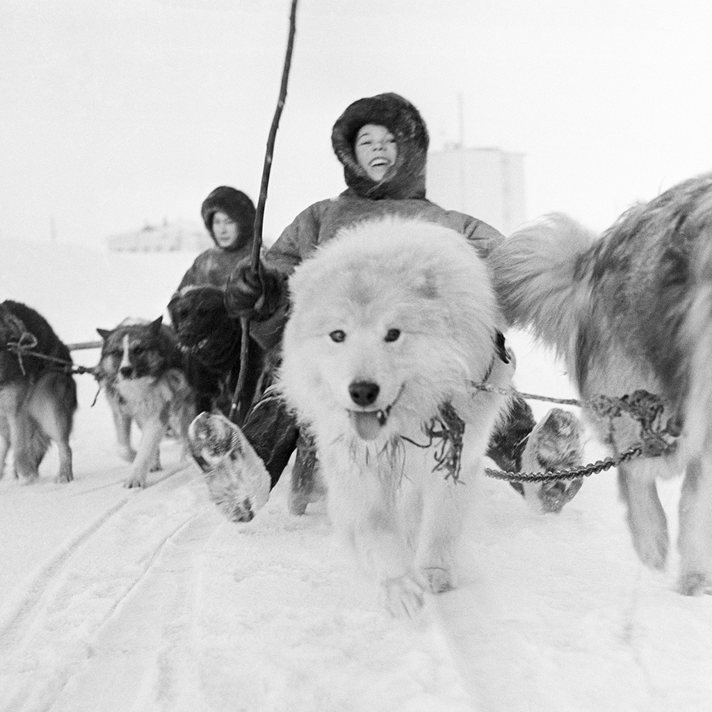
[[[370,135],[362,135],[365,127]],[[394,146],[390,150],[384,147],[385,159],[374,161],[380,165],[375,172],[357,143],[382,142],[382,129]],[[422,219],[463,234],[485,260],[504,239],[485,222],[441,208],[426,198],[429,135],[417,108],[402,96],[384,93],[355,101],[336,120],[331,140],[344,167],[345,191],[300,212],[263,256],[258,273],[253,273],[247,261],[240,263],[226,286],[229,313],[248,316],[251,336],[271,352],[278,352],[288,317],[288,277],[318,245],[345,226],[386,215]],[[278,362],[278,357],[273,362]],[[508,422],[493,435],[488,456],[501,468],[518,471],[534,425],[530,407],[516,398]],[[241,429],[265,465],[272,487],[298,446],[293,478],[309,487],[310,470],[315,466],[313,442],[307,433],[300,434],[293,415],[273,389],[266,389],[256,401]]]

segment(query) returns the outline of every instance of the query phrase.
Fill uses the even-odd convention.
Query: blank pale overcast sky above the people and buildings
[[[0,239],[103,244],[256,201],[290,0],[0,0]],[[431,147],[525,154],[527,211],[602,229],[712,169],[712,4],[300,0],[266,239],[342,190],[352,100],[394,91]]]

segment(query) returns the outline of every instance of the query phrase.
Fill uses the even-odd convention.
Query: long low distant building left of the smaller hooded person
[[[201,252],[213,246],[204,226],[198,223],[164,220],[162,225],[146,224],[107,239],[112,252]]]

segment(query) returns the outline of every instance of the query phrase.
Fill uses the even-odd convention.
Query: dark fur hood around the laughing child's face
[[[368,177],[354,155],[354,140],[365,124],[386,127],[398,148],[394,166],[379,182]],[[428,130],[417,108],[393,93],[355,101],[336,120],[331,133],[331,144],[343,164],[347,186],[360,197],[376,200],[425,197],[428,143]]]

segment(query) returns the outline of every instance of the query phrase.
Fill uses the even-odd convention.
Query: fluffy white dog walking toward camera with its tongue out
[[[488,271],[416,220],[342,231],[290,278],[281,389],[313,431],[338,533],[394,615],[454,586],[454,545],[514,371]]]

